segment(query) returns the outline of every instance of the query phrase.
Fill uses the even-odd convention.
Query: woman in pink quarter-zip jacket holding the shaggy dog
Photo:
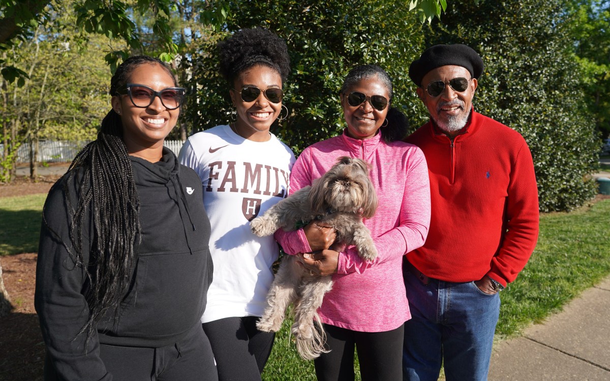
[[[294,193],[322,177],[337,158],[361,158],[371,164],[379,199],[375,216],[364,221],[379,253],[373,262],[362,260],[353,246],[331,246],[332,227],[312,222],[276,233],[284,251],[300,255],[307,269],[333,277],[318,311],[330,350],[315,360],[318,380],[353,380],[354,348],[362,380],[402,379],[404,322],[411,314],[401,266],[403,255],[426,240],[430,190],[426,159],[419,148],[400,141],[406,118],[391,101],[392,82],[383,69],[352,69],[341,89],[347,128],[306,148],[290,174]]]

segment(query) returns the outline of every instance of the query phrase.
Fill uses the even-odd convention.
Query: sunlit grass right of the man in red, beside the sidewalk
[[[496,333],[544,320],[610,274],[610,199],[540,216],[540,237],[517,280],[502,291]]]

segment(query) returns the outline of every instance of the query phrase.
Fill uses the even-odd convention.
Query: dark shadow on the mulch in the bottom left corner
[[[0,318],[0,381],[42,380],[45,344],[35,313]]]

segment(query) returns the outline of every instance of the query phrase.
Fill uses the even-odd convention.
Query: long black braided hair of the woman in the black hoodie
[[[117,90],[129,82],[134,69],[140,65],[160,65],[174,79],[171,70],[159,59],[135,56],[118,66],[110,80],[110,95],[117,95]],[[140,232],[140,198],[118,113],[114,110],[107,113],[98,138],[74,157],[66,176],[65,202],[74,214],[70,244],[63,244],[76,266],[81,266],[87,274],[85,297],[89,317],[80,333],[86,332],[89,341],[102,317],[118,313],[117,307],[129,287],[134,247],[139,244],[135,237]],[[73,183],[79,189],[75,207],[71,205],[68,186]],[[86,229],[91,232],[90,247],[83,247],[82,234]],[[89,251],[87,263],[83,255],[86,251]]]

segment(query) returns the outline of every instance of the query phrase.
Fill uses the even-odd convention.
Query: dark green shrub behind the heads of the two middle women
[[[216,44],[235,30],[257,26],[272,30],[288,45],[292,74],[284,85],[283,104],[290,113],[272,132],[296,153],[345,127],[339,89],[357,64],[386,69],[395,84],[393,104],[407,114],[423,115],[405,69],[422,51],[423,35],[417,14],[404,1],[237,1],[227,6],[224,28],[213,32],[193,56],[190,87],[200,102],[187,115],[193,132],[234,120],[229,84],[218,75]]]

